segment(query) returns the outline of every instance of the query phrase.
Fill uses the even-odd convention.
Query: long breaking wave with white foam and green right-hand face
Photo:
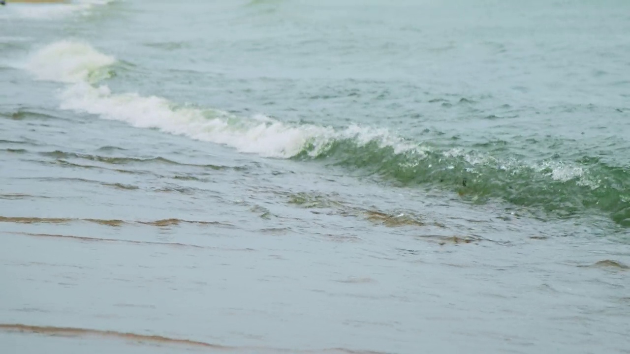
[[[443,149],[403,139],[385,128],[290,124],[264,115],[237,117],[210,108],[177,105],[158,96],[113,93],[101,81],[115,58],[87,43],[56,42],[26,64],[37,78],[66,83],[61,107],[157,128],[240,152],[284,159],[326,159],[398,185],[440,188],[463,200],[493,199],[575,217],[601,210],[630,226],[630,170],[592,157],[581,161],[520,161],[463,147]]]

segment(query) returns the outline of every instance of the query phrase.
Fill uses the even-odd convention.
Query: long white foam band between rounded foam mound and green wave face
[[[234,147],[241,152],[265,157],[291,157],[302,151],[309,140],[333,136],[332,128],[291,127],[266,120],[234,117],[219,110],[178,107],[164,98],[135,93],[112,94],[105,85],[77,83],[62,93],[62,109],[84,111],[134,127],[157,128]]]

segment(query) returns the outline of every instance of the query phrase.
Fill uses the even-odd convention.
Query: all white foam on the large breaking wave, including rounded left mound
[[[112,93],[108,86],[96,83],[114,63],[113,57],[86,43],[62,41],[38,50],[26,62],[25,69],[38,79],[68,84],[60,94],[63,109],[225,144],[241,152],[287,158],[309,146],[309,154],[316,156],[336,139],[353,139],[358,145],[377,142],[397,153],[421,152],[416,145],[403,142],[386,129],[352,126],[335,130],[318,125],[289,125],[264,115],[235,117],[219,110],[181,107],[156,96]]]

